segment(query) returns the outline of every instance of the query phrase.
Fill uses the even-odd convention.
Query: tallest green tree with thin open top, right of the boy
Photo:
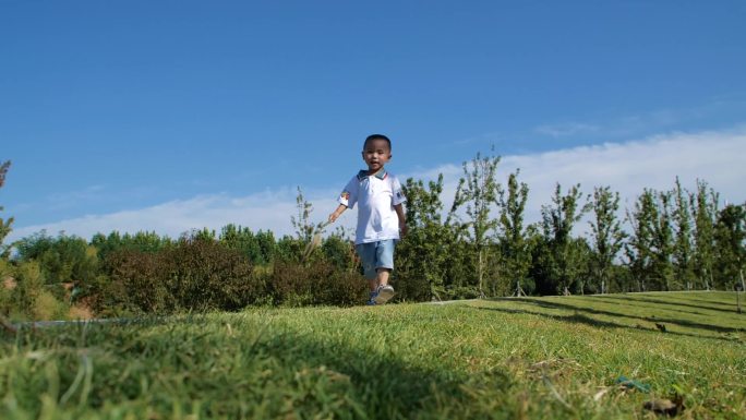
[[[477,254],[477,289],[480,297],[485,295],[485,277],[496,274],[490,272],[490,262],[493,260],[490,253],[493,243],[492,237],[497,227],[497,219],[491,216],[491,211],[497,204],[501,185],[497,182],[497,164],[500,156],[485,156],[477,154],[469,166],[464,163],[464,177],[459,180],[450,216],[456,211],[466,206],[468,220],[462,223],[462,230],[473,245]],[[450,220],[452,217],[448,217]],[[495,280],[491,280],[490,287],[495,289]]]

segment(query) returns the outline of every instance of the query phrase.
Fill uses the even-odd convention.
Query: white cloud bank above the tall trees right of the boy
[[[541,206],[551,203],[555,184],[563,193],[580,183],[590,194],[594,187],[610,185],[622,199],[622,209],[631,207],[645,188],[671,190],[678,176],[684,188],[694,190],[697,179],[705,180],[721,199],[731,203],[746,201],[746,130],[672,133],[641,141],[606,143],[540,154],[504,156],[498,166],[505,184],[510,172],[520,168],[519,181],[529,185],[527,223],[541,218]],[[446,165],[420,177],[436,179],[444,175],[444,202],[450,205],[462,169]],[[583,221],[579,232],[588,230]]]

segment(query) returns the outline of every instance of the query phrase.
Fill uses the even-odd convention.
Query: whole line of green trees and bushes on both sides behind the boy
[[[529,185],[517,170],[502,184],[500,157],[464,163],[453,202],[443,176],[407,179],[409,233],[397,247],[397,298],[429,301],[510,295],[732,289],[743,285],[746,205],[726,204],[703,180],[687,191],[645,189],[623,209],[611,187],[558,183],[541,219],[525,220]],[[10,163],[0,166],[0,187]],[[2,208],[0,207],[0,211]],[[155,232],[91,240],[38,232],[2,244],[0,312],[14,319],[122,316],[251,304],[359,304],[360,263],[342,228],[320,237],[298,190],[294,235],[228,225],[178,239]],[[588,220],[590,233],[577,236]],[[11,253],[11,251],[13,251]],[[79,312],[75,312],[77,309]]]

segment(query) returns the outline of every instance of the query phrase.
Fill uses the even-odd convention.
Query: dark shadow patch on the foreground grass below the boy
[[[323,332],[300,333],[289,328],[261,338],[257,348],[258,353],[272,355],[296,371],[324,367],[349,376],[353,399],[371,419],[410,419],[422,417],[423,412],[430,412],[429,417],[442,417],[448,410],[458,410],[452,412],[450,418],[465,415],[464,410],[483,416],[474,406],[473,396],[465,389],[486,388],[497,395],[507,395],[501,391],[507,392],[515,383],[508,372],[501,370],[467,375],[438,363],[413,365],[387,348],[386,343],[393,345],[399,339],[397,333],[386,332],[385,321],[380,327],[384,333],[370,339],[384,341],[373,346],[366,343],[352,345],[348,343],[349,338],[332,338]]]

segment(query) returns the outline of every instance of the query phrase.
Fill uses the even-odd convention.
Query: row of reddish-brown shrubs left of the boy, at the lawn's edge
[[[181,239],[159,252],[121,250],[84,300],[100,316],[236,311],[246,305],[353,305],[365,281],[330,262],[277,261],[254,267],[238,250],[209,239]]]

